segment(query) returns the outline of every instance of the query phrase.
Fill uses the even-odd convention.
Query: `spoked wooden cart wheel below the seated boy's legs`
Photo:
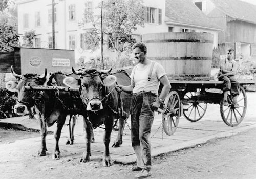
[[[240,94],[238,96],[238,105],[239,108],[234,108],[233,98],[231,95],[228,95],[228,104],[229,106],[223,105],[223,100],[220,102],[220,111],[221,117],[225,124],[228,126],[234,127],[242,122],[244,119],[246,109],[247,109],[247,97],[245,90],[240,86]]]

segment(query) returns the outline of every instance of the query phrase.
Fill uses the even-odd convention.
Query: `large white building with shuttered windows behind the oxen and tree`
[[[52,1],[14,0],[18,5],[18,33],[35,30],[34,46],[52,48]],[[100,56],[101,49],[91,52],[82,42],[79,28],[84,11],[95,11],[100,0],[55,0],[55,48],[75,50],[75,59],[81,56]],[[191,0],[144,0],[145,24],[138,27],[132,36],[143,41],[142,34],[157,32],[206,32],[214,34],[217,47],[218,32],[221,27],[212,23]],[[22,41],[22,38],[20,38]],[[23,42],[22,42],[23,43]],[[115,54],[105,50],[104,55],[115,58]]]

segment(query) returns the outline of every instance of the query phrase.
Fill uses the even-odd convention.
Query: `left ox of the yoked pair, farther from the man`
[[[14,106],[14,111],[18,115],[26,115],[29,113],[29,109],[32,106],[35,106],[35,112],[38,116],[40,129],[41,129],[41,146],[38,151],[39,156],[45,156],[47,147],[46,147],[46,136],[47,136],[47,126],[51,127],[55,122],[57,122],[57,128],[54,132],[55,137],[55,148],[52,154],[52,158],[59,158],[59,138],[61,129],[66,121],[67,115],[76,115],[80,114],[84,117],[87,116],[86,110],[83,106],[81,99],[78,94],[71,94],[69,92],[54,92],[54,91],[23,91],[23,86],[34,86],[34,85],[57,85],[65,86],[63,84],[63,79],[66,75],[61,72],[47,74],[45,73],[38,76],[35,73],[27,73],[23,75],[17,75],[12,67],[11,73],[19,81],[18,83],[14,81],[9,81],[6,83],[6,88],[12,92],[18,92],[18,101]],[[78,77],[73,73],[70,74],[73,77]],[[74,125],[76,117],[73,117],[72,121],[72,131],[71,138],[68,139],[66,144],[73,144],[74,140]]]

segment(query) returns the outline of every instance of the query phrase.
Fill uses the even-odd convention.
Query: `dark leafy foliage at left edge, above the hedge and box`
[[[13,25],[4,21],[0,24],[0,52],[13,51],[13,47],[18,46],[18,32]]]

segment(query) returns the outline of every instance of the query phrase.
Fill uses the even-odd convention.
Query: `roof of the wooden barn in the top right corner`
[[[211,0],[211,2],[232,18],[256,24],[256,5],[239,0]]]

